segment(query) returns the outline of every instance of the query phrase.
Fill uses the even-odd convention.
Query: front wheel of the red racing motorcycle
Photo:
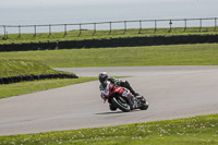
[[[113,97],[111,99],[111,102],[119,108],[120,110],[124,112],[131,111],[130,105],[126,102],[125,99],[123,99],[121,96]]]

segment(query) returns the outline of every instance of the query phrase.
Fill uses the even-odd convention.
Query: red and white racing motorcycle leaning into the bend
[[[114,84],[107,81],[105,89],[101,90],[101,95],[105,101],[108,100],[109,104],[116,107],[113,110],[116,110],[117,108],[124,112],[133,110],[132,105],[130,102],[130,97],[132,96],[132,94],[125,87],[114,86]],[[133,101],[137,102],[136,109],[147,110],[148,102],[143,96],[133,97]]]

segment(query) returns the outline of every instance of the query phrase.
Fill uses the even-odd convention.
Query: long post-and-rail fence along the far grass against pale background
[[[174,19],[174,20],[138,20],[138,21],[113,21],[113,22],[98,22],[98,23],[78,23],[78,24],[48,24],[48,25],[0,25],[0,35],[3,39],[8,38],[9,34],[17,34],[21,37],[22,34],[32,33],[33,36],[37,36],[39,33],[48,33],[48,36],[52,35],[55,32],[63,32],[63,35],[68,35],[69,31],[78,31],[77,36],[81,36],[84,29],[93,31],[93,35],[97,31],[108,31],[108,35],[111,34],[113,29],[123,29],[123,34],[126,33],[129,28],[138,29],[137,33],[141,34],[143,28],[154,28],[156,33],[157,28],[167,27],[169,33],[173,27],[182,27],[185,32],[187,27],[197,27],[198,32],[202,27],[208,26],[214,27],[214,32],[217,31],[217,19]]]

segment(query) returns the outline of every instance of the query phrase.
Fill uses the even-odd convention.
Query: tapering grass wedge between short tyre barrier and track
[[[58,78],[58,80],[44,80],[33,82],[21,82],[13,84],[0,85],[0,99],[19,96],[23,94],[35,93],[39,90],[47,90],[51,88],[96,81],[96,77],[78,77],[78,78]]]

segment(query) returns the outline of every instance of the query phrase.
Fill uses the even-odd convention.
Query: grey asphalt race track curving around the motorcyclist
[[[218,67],[118,67],[58,69],[78,76],[126,76],[149,101],[148,110],[110,111],[99,82],[0,99],[0,135],[150,122],[218,113]]]

